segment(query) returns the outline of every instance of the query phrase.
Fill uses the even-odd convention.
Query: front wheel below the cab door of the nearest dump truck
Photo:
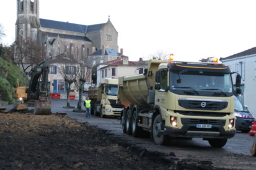
[[[158,114],[154,119],[154,124],[152,126],[152,135],[154,138],[154,143],[157,145],[166,145],[168,143],[169,137],[167,135],[161,134],[161,116]]]

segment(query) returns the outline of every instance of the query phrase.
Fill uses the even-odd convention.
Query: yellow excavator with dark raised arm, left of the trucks
[[[13,90],[13,95],[19,101],[14,106],[16,109],[34,106],[34,114],[49,115],[51,114],[50,83],[48,83],[49,59],[37,64],[31,71],[29,87],[19,87],[17,80],[17,88]]]

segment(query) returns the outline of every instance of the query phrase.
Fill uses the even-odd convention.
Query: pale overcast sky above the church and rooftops
[[[255,0],[40,0],[40,18],[93,25],[110,20],[130,61],[156,51],[175,60],[225,58],[256,47]],[[17,0],[0,0],[0,23],[15,40]]]

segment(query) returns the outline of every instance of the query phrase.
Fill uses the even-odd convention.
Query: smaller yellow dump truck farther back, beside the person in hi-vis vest
[[[88,96],[91,100],[91,112],[100,117],[115,116],[119,117],[123,105],[117,103],[118,79],[106,78],[99,87],[89,88]]]

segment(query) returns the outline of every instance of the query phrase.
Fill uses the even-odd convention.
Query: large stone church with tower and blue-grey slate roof
[[[17,43],[28,39],[37,42],[44,46],[48,58],[60,54],[72,55],[77,60],[95,56],[93,64],[98,64],[121,56],[118,32],[110,18],[95,25],[39,18],[39,0],[17,0],[15,31]],[[107,50],[112,51],[111,56]]]

